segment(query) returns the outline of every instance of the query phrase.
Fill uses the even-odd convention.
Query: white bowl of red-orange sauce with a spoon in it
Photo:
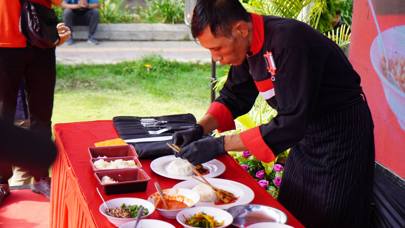
[[[164,198],[168,200],[177,200],[180,202],[183,202],[187,204],[188,207],[194,206],[198,201],[200,201],[200,195],[191,189],[186,189],[186,188],[169,188],[169,189],[164,189],[162,190]],[[161,198],[158,192],[153,193],[148,197],[148,201],[151,202],[158,213],[166,218],[169,219],[175,219],[177,213],[179,211],[184,210],[183,209],[177,209],[177,210],[165,210],[165,209],[159,209],[156,207],[156,204],[160,202]]]

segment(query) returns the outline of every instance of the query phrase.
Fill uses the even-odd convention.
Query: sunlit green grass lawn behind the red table
[[[152,65],[150,71],[145,64]],[[217,66],[217,77],[227,69]],[[53,124],[182,113],[199,120],[211,99],[211,64],[160,56],[115,65],[58,65],[57,75]]]

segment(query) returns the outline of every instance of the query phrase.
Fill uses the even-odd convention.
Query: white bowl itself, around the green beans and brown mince
[[[153,204],[151,202],[148,202],[147,200],[143,200],[143,199],[139,199],[139,198],[115,198],[112,200],[107,200],[105,203],[107,204],[108,208],[114,208],[114,207],[119,208],[119,207],[121,207],[121,205],[123,203],[125,203],[126,206],[135,205],[135,204],[138,206],[142,205],[148,209],[149,213],[147,215],[142,216],[141,218],[146,218],[151,213],[153,213],[153,211],[155,211],[155,206],[153,206]],[[118,227],[122,226],[126,222],[136,220],[136,218],[124,219],[124,218],[111,217],[111,216],[107,215],[107,213],[105,212],[104,203],[102,203],[98,207],[98,210],[100,211],[100,213],[102,215],[107,217],[108,221],[110,221],[112,224],[114,224],[115,226],[118,226]]]

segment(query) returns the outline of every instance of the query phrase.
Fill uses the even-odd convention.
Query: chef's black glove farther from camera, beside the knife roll
[[[196,123],[187,130],[176,131],[173,134],[172,141],[173,144],[176,144],[177,146],[180,146],[180,148],[183,148],[184,146],[187,146],[188,144],[199,140],[200,138],[203,137],[203,135],[204,135],[203,126]]]

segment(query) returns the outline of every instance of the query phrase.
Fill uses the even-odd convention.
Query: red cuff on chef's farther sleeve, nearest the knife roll
[[[217,120],[220,125],[220,128],[218,128],[219,133],[236,129],[232,114],[222,103],[211,103],[206,114],[213,115],[215,120]]]

